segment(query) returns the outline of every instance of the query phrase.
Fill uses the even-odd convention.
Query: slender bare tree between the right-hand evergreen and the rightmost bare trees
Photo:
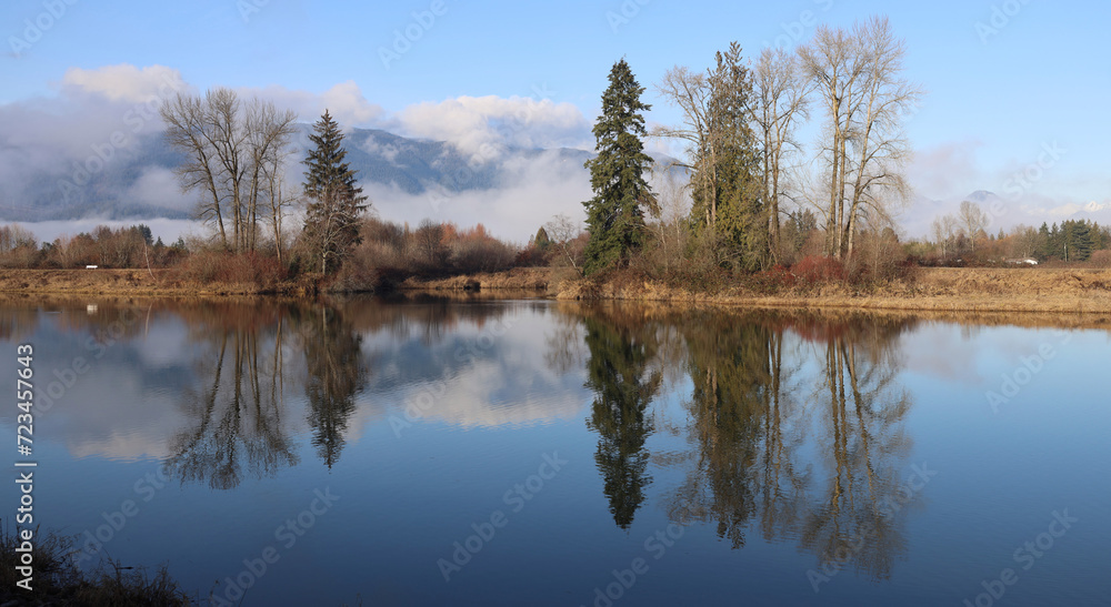
[[[757,60],[752,121],[763,146],[763,194],[768,202],[769,236],[774,259],[780,254],[780,198],[783,161],[800,150],[794,139],[798,120],[809,118],[812,81],[802,78],[799,60],[783,49],[764,49]]]

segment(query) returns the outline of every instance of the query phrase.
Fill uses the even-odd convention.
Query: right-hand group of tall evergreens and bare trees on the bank
[[[618,61],[594,125],[598,156],[587,162],[583,273],[645,253],[664,265],[767,270],[794,261],[811,236],[800,227],[820,231],[821,255],[853,257],[867,233],[893,226],[890,211],[908,194],[903,123],[922,92],[901,75],[904,57],[885,18],[819,27],[797,52],[769,49],[754,62],[734,42],[705,70],[664,73],[657,90],[682,120],[651,132],[644,88]],[[798,133],[812,110],[824,120],[808,155]],[[664,175],[679,169],[685,183],[665,183],[663,195],[649,184],[648,136],[685,146],[688,160]]]

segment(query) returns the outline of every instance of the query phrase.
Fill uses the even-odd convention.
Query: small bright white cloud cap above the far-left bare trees
[[[181,72],[164,65],[137,68],[128,63],[94,70],[70,68],[62,77],[62,89],[94,93],[111,101],[142,103],[150,98],[168,97],[167,91],[186,91]]]

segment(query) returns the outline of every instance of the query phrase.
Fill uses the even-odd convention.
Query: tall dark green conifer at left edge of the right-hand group
[[[652,159],[641,141],[648,132],[641,112],[651,105],[640,100],[644,88],[624,59],[613,64],[610,85],[602,94],[602,115],[594,124],[598,156],[587,161],[594,198],[584,202],[590,241],[585,249],[585,272],[623,264],[644,239],[642,204],[655,199],[644,171]]]

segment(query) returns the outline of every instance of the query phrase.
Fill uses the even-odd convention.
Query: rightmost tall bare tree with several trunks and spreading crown
[[[857,23],[851,31],[820,26],[799,49],[829,120],[822,154],[828,162],[827,253],[852,254],[865,213],[887,214],[904,200],[902,166],[910,150],[901,118],[921,91],[900,78],[905,44],[885,18]]]

